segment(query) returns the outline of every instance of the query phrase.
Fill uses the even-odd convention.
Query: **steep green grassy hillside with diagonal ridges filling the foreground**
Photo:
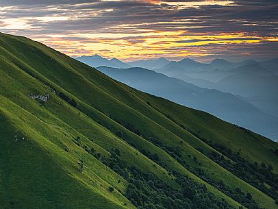
[[[277,208],[278,145],[0,34],[1,208]]]

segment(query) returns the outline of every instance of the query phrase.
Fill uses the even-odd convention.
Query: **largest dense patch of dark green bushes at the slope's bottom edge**
[[[110,157],[101,158],[101,162],[129,182],[125,196],[140,209],[231,208],[227,201],[216,199],[205,185],[194,182],[188,176],[173,172],[175,181],[181,186],[173,188],[153,173],[129,167],[118,149],[110,150],[110,153]]]

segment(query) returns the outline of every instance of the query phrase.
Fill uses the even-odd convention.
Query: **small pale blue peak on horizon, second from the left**
[[[166,64],[169,64],[169,60],[166,60],[165,58],[159,58],[155,60],[137,60],[134,62],[127,62],[130,66],[134,67],[142,67],[144,69],[160,69]]]

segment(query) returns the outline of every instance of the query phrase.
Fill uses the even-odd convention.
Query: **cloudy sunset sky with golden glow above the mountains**
[[[270,60],[278,1],[0,0],[0,32],[73,57]]]

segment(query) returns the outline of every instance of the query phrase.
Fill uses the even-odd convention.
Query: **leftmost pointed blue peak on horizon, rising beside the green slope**
[[[94,55],[94,56],[81,56],[79,58],[75,58],[76,60],[79,60],[80,62],[84,62],[85,64],[88,64],[93,67],[97,66],[111,66],[111,67],[116,67],[116,68],[129,68],[128,64],[125,62],[122,62],[116,58],[113,58],[112,60],[108,60],[105,58],[102,58],[99,55]]]

